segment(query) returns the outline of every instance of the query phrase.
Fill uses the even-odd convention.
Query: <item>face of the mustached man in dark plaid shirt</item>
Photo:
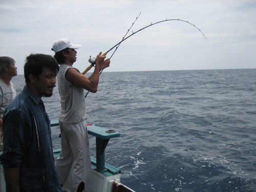
[[[50,69],[44,68],[42,73],[35,78],[34,89],[39,96],[51,97],[56,83],[56,74]]]

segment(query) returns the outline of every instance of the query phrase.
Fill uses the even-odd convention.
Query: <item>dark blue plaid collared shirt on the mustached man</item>
[[[4,168],[20,168],[20,191],[62,191],[54,165],[50,121],[42,100],[25,87],[3,118]]]

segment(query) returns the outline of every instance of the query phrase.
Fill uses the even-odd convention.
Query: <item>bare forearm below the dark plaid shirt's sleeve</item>
[[[19,167],[4,168],[6,192],[19,192]]]

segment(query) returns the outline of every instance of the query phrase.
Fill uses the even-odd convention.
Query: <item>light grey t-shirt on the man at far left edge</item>
[[[10,86],[0,80],[0,118],[3,119],[5,109],[9,103],[16,97],[14,85],[10,82]]]

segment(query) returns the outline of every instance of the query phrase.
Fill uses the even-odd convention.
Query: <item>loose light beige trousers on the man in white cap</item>
[[[80,182],[84,182],[85,191],[89,191],[91,174],[91,157],[86,121],[74,124],[59,122],[61,133],[61,153],[56,160],[56,171],[62,186],[69,175],[72,164],[73,191]]]

